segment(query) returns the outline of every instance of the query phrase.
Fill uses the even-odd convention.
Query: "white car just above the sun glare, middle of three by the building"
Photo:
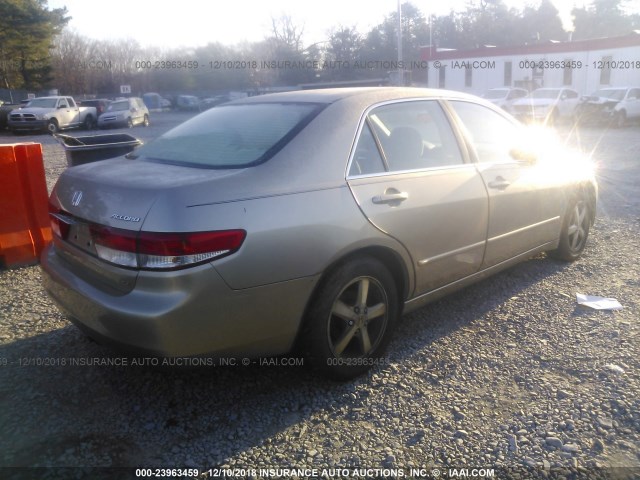
[[[560,119],[573,119],[580,95],[570,88],[538,88],[513,103],[512,113],[521,120],[553,124]]]

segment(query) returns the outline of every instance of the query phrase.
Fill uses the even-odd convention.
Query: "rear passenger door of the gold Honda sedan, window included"
[[[488,200],[436,100],[393,102],[366,115],[348,183],[361,210],[409,251],[416,295],[480,268]]]

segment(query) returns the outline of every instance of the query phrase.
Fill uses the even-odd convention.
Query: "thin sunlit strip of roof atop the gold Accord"
[[[293,90],[289,92],[270,93],[254,97],[242,98],[229,104],[266,103],[266,102],[310,102],[310,103],[335,103],[349,98],[371,101],[371,103],[384,100],[397,100],[409,98],[457,98],[477,99],[473,95],[453,90],[441,90],[415,87],[352,87],[352,88],[326,88],[315,90]]]

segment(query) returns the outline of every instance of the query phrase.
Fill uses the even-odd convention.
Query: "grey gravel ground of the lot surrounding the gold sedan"
[[[186,117],[157,114],[128,133],[144,140]],[[541,255],[406,315],[389,364],[350,383],[304,366],[132,365],[65,320],[38,267],[0,271],[0,477],[225,467],[236,478],[252,473],[237,469],[266,478],[261,468],[640,478],[639,132],[563,130],[599,166],[599,218],[580,261]],[[62,147],[0,133],[0,143],[14,141],[43,143],[51,188]],[[624,309],[577,306],[576,292]],[[128,366],[101,365],[108,360]]]

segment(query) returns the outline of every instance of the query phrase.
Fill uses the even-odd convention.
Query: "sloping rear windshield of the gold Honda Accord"
[[[243,168],[271,158],[320,110],[314,103],[252,103],[207,110],[135,151],[135,158]]]

